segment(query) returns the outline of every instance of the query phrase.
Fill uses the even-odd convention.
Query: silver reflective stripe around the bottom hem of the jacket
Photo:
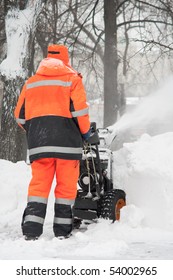
[[[32,148],[29,150],[29,155],[35,155],[39,153],[65,153],[65,154],[81,154],[82,148],[71,147],[55,147],[55,146],[43,146],[38,148]]]

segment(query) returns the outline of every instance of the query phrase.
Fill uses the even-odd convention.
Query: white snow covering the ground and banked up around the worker
[[[52,186],[44,233],[38,241],[25,241],[20,228],[30,166],[0,160],[0,259],[172,259],[172,155],[173,132],[144,134],[114,152],[115,187],[127,196],[120,221],[83,223],[67,240],[53,235]]]

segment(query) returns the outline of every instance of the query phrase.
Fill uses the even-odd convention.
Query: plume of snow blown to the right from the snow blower
[[[159,89],[139,102],[135,110],[124,114],[118,122],[109,127],[111,134],[107,138],[108,145],[114,137],[122,138],[122,142],[141,136],[144,132],[156,135],[173,130],[173,77],[162,83]],[[115,140],[116,141],[116,140]],[[114,146],[114,145],[113,145]]]

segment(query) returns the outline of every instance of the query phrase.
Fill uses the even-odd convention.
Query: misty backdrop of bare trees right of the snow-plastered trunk
[[[172,13],[167,0],[49,0],[44,10],[49,30],[42,33],[40,26],[39,42],[46,50],[49,34],[48,42],[69,46],[89,99],[104,101],[108,126],[121,112],[125,95],[146,94],[163,76],[156,69],[172,53]]]

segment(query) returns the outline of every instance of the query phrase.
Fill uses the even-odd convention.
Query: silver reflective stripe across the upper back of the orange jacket
[[[38,82],[33,82],[26,85],[26,89],[31,89],[35,87],[42,87],[42,86],[62,86],[62,87],[70,87],[72,82],[65,82],[61,80],[43,80]]]

